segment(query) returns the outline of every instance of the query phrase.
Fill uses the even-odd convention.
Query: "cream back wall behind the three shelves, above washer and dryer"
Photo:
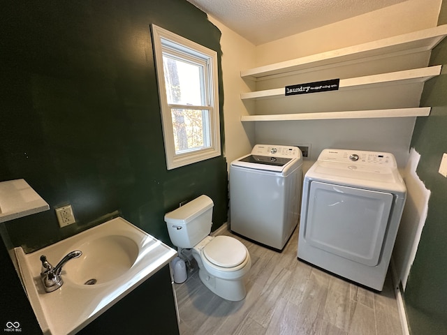
[[[256,66],[436,27],[440,3],[440,0],[404,1],[372,13],[275,40],[272,43],[258,45]],[[281,77],[278,80],[258,81],[256,90],[418,68],[427,66],[429,58],[430,52],[424,52],[358,66],[314,70],[300,75]],[[254,108],[256,114],[272,114],[272,111],[287,114],[417,107],[422,89],[421,84],[409,84],[404,87],[307,94],[286,99],[256,101]],[[250,111],[250,113],[254,112],[254,110]],[[258,121],[255,126],[255,142],[311,144],[311,161],[316,160],[318,154],[325,148],[389,151],[396,156],[400,168],[404,168],[415,120],[410,117],[330,121]]]

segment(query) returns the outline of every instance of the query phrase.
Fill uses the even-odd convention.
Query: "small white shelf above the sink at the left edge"
[[[50,206],[24,179],[0,182],[0,222],[47,211]]]

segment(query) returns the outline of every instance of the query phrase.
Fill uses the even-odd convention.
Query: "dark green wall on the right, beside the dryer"
[[[444,0],[439,24],[447,24]],[[420,154],[416,170],[431,191],[428,214],[404,292],[412,335],[447,334],[447,179],[438,173],[447,153],[447,40],[432,52],[430,65],[442,64],[441,75],[425,83],[421,106],[430,117],[418,118],[411,146]]]

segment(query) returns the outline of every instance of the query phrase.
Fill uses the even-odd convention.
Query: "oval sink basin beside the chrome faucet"
[[[135,241],[119,235],[99,237],[76,248],[82,255],[64,266],[62,277],[78,285],[98,285],[119,278],[138,258]]]

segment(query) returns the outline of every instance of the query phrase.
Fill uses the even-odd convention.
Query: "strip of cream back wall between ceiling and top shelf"
[[[436,27],[439,8],[441,0],[403,1],[302,34],[258,45],[255,66]]]

